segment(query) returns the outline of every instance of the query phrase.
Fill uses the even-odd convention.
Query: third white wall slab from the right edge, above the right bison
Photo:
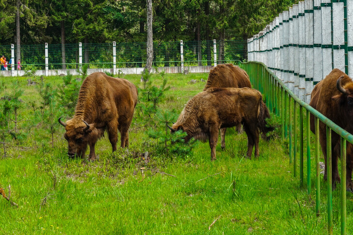
[[[321,0],[322,27],[322,79],[333,69],[332,67],[332,35],[331,35],[331,0]]]

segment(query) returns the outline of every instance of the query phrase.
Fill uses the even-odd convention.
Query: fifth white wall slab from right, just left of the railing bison
[[[306,103],[310,103],[314,77],[314,33],[313,33],[313,0],[305,0],[305,96]],[[315,26],[316,27],[316,26]]]

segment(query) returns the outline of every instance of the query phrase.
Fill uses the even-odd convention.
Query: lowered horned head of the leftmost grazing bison
[[[71,119],[64,123],[61,118],[59,118],[59,123],[65,127],[64,138],[68,142],[67,155],[69,157],[75,157],[75,155],[84,157],[94,125],[89,125],[85,121],[77,119]]]

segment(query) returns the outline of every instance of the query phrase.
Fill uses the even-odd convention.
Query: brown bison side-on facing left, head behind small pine
[[[248,136],[248,151],[251,158],[255,144],[255,157],[258,153],[259,131],[268,132],[266,118],[269,110],[262,101],[262,95],[251,88],[213,88],[196,94],[180,113],[171,131],[183,130],[185,141],[192,137],[201,141],[209,140],[211,160],[216,159],[218,130],[243,124]]]

